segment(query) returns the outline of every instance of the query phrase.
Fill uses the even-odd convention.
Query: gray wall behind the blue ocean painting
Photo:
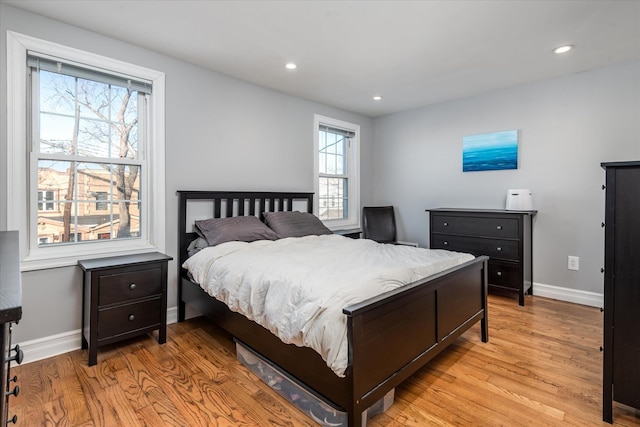
[[[463,136],[509,129],[517,170],[462,172]],[[428,246],[425,209],[504,208],[508,189],[529,188],[534,281],[602,293],[600,163],[640,160],[639,62],[389,115],[374,135],[374,201],[397,206],[402,240]]]

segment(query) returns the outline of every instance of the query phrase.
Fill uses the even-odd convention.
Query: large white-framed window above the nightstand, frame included
[[[164,250],[164,74],[13,32],[7,47],[22,269]]]

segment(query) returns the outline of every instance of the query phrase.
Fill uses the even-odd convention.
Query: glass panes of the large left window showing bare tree
[[[38,89],[38,191],[59,198],[41,244],[139,237],[138,92],[45,70]]]

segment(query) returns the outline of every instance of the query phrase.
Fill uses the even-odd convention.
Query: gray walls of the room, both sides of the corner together
[[[0,4],[0,74],[6,34],[17,31],[166,73],[166,239],[176,255],[180,189],[313,189],[313,115],[360,124],[363,204],[397,206],[400,237],[427,245],[425,209],[501,208],[509,188],[531,188],[535,281],[602,292],[604,175],[600,162],[640,159],[640,64],[547,80],[373,120],[290,97]],[[0,129],[6,129],[0,79]],[[520,130],[515,171],[461,172],[464,135]],[[0,165],[6,164],[0,133]],[[0,175],[0,229],[6,229]],[[568,271],[567,255],[581,269]],[[170,264],[169,306],[176,304]],[[77,267],[23,273],[19,342],[79,329]]]

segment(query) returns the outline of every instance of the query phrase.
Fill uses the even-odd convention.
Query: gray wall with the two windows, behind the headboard
[[[6,31],[131,62],[166,73],[166,244],[176,256],[177,190],[313,191],[313,115],[361,126],[361,198],[372,197],[373,120],[290,97],[118,40],[0,4],[0,74]],[[0,164],[6,162],[6,79],[0,79]],[[6,176],[0,175],[0,229],[6,229]],[[169,265],[169,307],[176,305],[177,266]],[[18,342],[80,328],[78,267],[22,274]],[[79,343],[78,343],[79,345]]]

